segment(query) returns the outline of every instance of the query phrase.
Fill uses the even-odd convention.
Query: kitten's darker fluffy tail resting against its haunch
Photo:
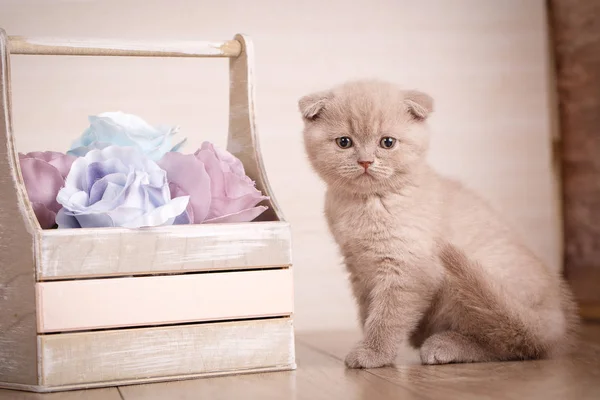
[[[513,299],[502,288],[485,279],[483,269],[460,249],[445,245],[440,259],[448,271],[450,290],[465,310],[461,321],[465,333],[476,337],[499,360],[536,359],[560,346],[564,330],[550,327],[533,308]],[[543,314],[543,313],[542,313]],[[558,325],[566,325],[562,310],[554,313]],[[556,334],[548,332],[558,330]],[[546,330],[546,331],[545,331]]]

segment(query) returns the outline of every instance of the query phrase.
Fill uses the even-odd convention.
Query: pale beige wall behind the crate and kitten
[[[298,330],[355,324],[296,111],[301,95],[349,78],[431,93],[431,162],[487,197],[560,268],[543,0],[0,0],[0,27],[26,36],[252,36],[261,145],[294,231]],[[116,109],[181,125],[187,150],[224,145],[227,73],[226,60],[13,57],[19,150],[64,151],[87,115]]]

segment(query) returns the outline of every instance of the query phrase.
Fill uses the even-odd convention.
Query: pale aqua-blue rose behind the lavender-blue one
[[[154,161],[169,151],[177,151],[185,143],[182,140],[171,146],[171,138],[179,128],[171,126],[152,127],[140,117],[123,112],[105,112],[88,117],[90,126],[73,142],[67,154],[84,156],[93,149],[111,145],[132,146],[141,150]]]

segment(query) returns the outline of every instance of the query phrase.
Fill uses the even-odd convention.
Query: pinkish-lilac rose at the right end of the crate
[[[268,197],[246,176],[242,162],[209,142],[193,155],[167,153],[159,165],[167,171],[172,196],[190,196],[191,223],[249,222],[267,209],[257,206]]]

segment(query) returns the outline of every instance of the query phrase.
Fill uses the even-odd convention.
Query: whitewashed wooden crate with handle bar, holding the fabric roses
[[[10,54],[228,57],[228,150],[256,222],[43,230],[11,125]],[[0,386],[48,392],[295,368],[290,226],[254,125],[252,45],[56,42],[0,30]]]

